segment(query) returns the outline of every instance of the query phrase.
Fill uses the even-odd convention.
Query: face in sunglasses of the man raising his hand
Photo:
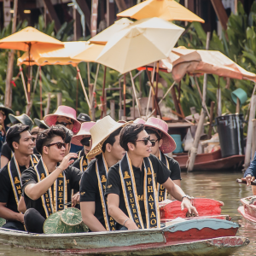
[[[56,137],[53,137],[53,139],[49,144],[54,144],[54,143],[64,143],[64,141],[60,136],[56,136]],[[56,144],[49,147],[44,146],[43,154],[47,154],[50,160],[58,163],[58,162],[61,162],[65,157],[66,147],[62,146],[61,148],[58,148]]]

